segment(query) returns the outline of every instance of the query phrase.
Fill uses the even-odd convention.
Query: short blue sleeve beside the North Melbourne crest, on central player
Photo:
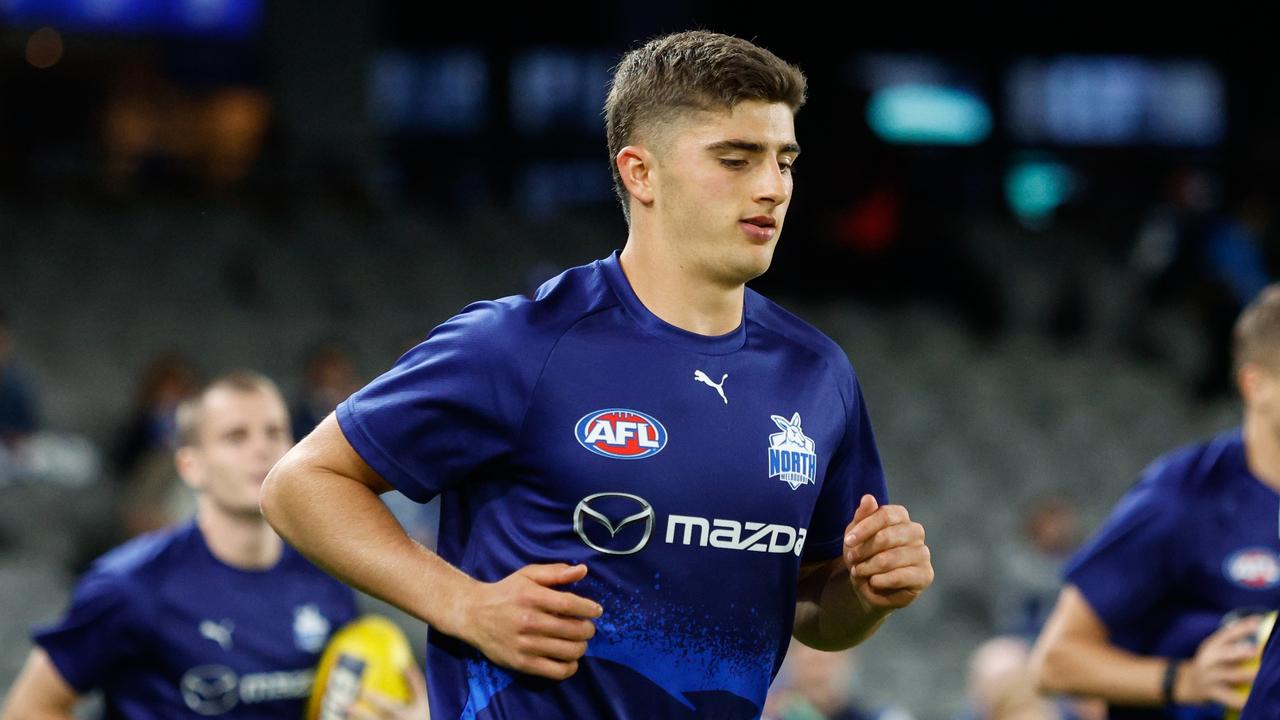
[[[845,409],[845,434],[831,457],[822,493],[805,537],[804,561],[831,560],[845,544],[845,528],[854,519],[861,497],[870,493],[881,505],[888,502],[884,470],[876,434],[867,414],[861,388],[850,374],[850,402]]]

